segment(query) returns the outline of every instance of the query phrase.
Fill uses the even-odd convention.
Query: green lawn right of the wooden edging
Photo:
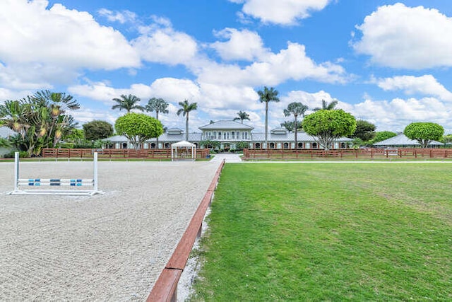
[[[451,301],[451,163],[227,164],[193,301]]]

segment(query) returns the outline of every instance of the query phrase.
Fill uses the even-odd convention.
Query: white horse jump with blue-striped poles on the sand
[[[94,175],[92,179],[81,178],[19,178],[19,153],[14,155],[14,191],[13,195],[94,195],[104,194],[97,188],[97,152],[94,153]],[[38,187],[21,190],[20,187]],[[41,187],[72,187],[72,190],[41,189]],[[81,190],[78,187],[93,187],[93,190]]]

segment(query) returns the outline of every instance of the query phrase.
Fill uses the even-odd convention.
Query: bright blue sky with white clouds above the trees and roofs
[[[452,133],[448,0],[4,0],[0,37],[0,102],[66,92],[80,124],[113,124],[124,112],[112,98],[131,93],[167,100],[167,127],[184,129],[187,99],[191,131],[239,110],[262,131],[268,86],[281,100],[270,128],[289,103],[324,99],[377,131],[428,121]]]

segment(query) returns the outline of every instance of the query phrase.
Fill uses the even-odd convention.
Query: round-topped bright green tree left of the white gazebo
[[[117,134],[129,139],[137,150],[145,140],[158,137],[163,133],[162,123],[159,120],[134,112],[119,117],[114,123],[114,129]]]

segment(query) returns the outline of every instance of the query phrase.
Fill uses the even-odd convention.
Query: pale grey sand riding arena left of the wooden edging
[[[0,301],[148,297],[219,162],[98,163],[94,196],[8,195],[0,163]],[[23,178],[92,175],[93,162],[20,163]]]

